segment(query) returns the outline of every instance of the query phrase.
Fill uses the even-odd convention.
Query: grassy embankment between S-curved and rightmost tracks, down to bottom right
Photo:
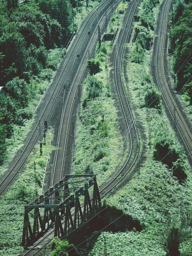
[[[143,2],[139,16],[143,12],[147,13],[146,2],[149,1]],[[157,10],[158,7],[154,8],[154,13],[157,14]],[[142,31],[140,21],[135,26]],[[138,40],[143,37],[142,34],[140,36],[137,37]],[[103,253],[105,236],[107,253],[112,256],[165,256],[166,253],[172,256],[189,256],[192,252],[190,168],[183,148],[179,143],[174,143],[174,132],[165,116],[159,92],[150,77],[150,52],[141,49],[141,42],[138,41],[127,47],[129,54],[125,58],[128,60],[128,89],[147,137],[148,125],[145,117],[147,100],[149,101],[152,150],[148,148],[142,156],[140,177],[134,177],[109,201],[125,215],[138,220],[143,230],[138,232],[133,229],[114,234],[103,232],[89,255]]]

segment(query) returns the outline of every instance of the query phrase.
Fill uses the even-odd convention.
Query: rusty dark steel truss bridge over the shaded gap
[[[54,236],[64,238],[98,213],[101,205],[96,175],[65,175],[25,205],[21,245],[33,244],[53,225]]]

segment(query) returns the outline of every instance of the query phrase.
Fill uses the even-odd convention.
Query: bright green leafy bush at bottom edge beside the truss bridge
[[[60,240],[58,237],[52,240],[51,246],[53,251],[50,256],[68,256],[67,250],[73,247],[67,240]]]

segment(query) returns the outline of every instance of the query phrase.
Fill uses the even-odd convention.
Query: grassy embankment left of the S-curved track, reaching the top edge
[[[109,22],[107,33],[115,32],[121,24],[127,3],[121,3]],[[123,142],[127,132],[121,134],[115,100],[113,99],[110,82],[107,84],[107,73],[110,68],[105,62],[111,52],[111,42],[102,43],[100,52],[95,55],[95,61],[100,65],[100,71],[89,75],[84,82],[82,108],[76,131],[76,159],[74,173],[95,173],[99,186],[114,175],[126,157],[123,152]],[[96,94],[92,91],[91,83],[99,84]],[[93,86],[94,87],[94,86]],[[94,94],[94,95],[93,95]],[[110,95],[109,95],[110,94]],[[128,145],[126,145],[127,147]],[[125,154],[125,155],[124,155]]]

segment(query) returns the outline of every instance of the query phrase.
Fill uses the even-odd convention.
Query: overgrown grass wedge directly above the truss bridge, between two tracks
[[[103,43],[103,47],[108,49],[109,45],[109,42]],[[97,57],[100,58],[100,55]],[[95,173],[99,185],[106,182],[117,166],[121,165],[123,155],[123,137],[118,126],[115,101],[108,97],[105,58],[103,61],[100,58],[100,62],[102,71],[94,76],[102,83],[98,97],[87,99],[89,94],[85,81],[83,102],[86,101],[86,105],[78,121],[74,162],[74,173]]]

